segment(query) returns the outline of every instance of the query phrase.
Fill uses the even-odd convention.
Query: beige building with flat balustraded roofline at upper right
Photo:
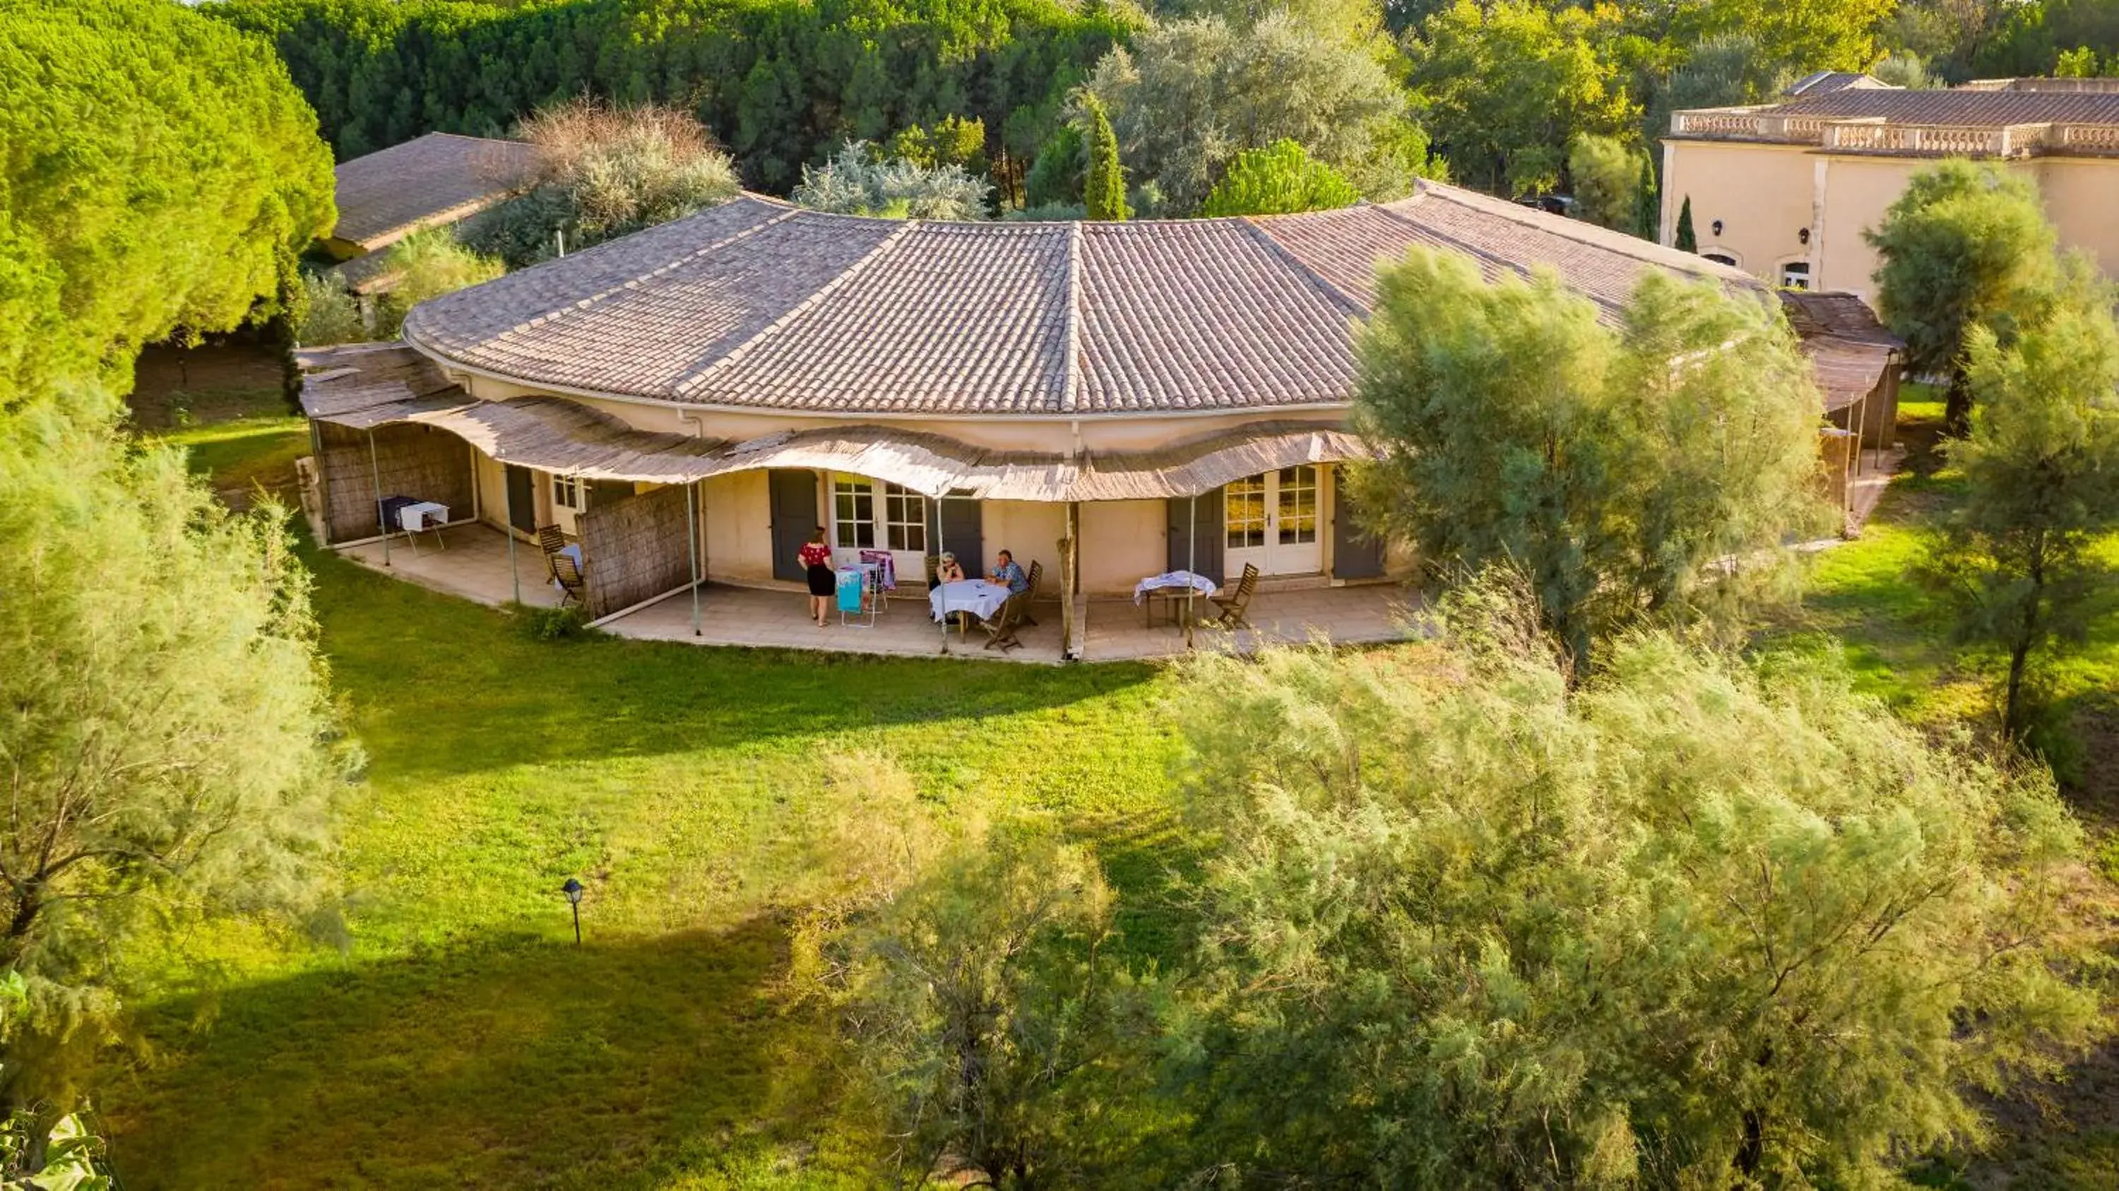
[[[1661,242],[1676,242],[1691,197],[1704,256],[1776,286],[1869,297],[1877,259],[1863,231],[1941,157],[2032,178],[2060,242],[2119,275],[2119,78],[1903,91],[1829,74],[1780,104],[1674,112]]]

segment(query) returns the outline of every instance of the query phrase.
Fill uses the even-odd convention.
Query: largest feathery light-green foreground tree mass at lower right
[[[1661,632],[1570,687],[1517,589],[1422,646],[1187,665],[1206,945],[1168,1049],[1197,1166],[1897,1185],[2098,1036],[2043,769],[1928,740],[1837,663]]]

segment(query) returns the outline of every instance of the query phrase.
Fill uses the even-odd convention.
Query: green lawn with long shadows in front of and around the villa
[[[1983,687],[1903,579],[1952,496],[1918,447],[1928,411],[1909,413],[1916,475],[1771,636],[1844,636],[1875,691],[1941,723],[1986,714]],[[290,458],[265,424],[176,432],[216,483],[269,483]],[[824,822],[877,771],[947,816],[1062,820],[1119,886],[1125,943],[1178,952],[1157,899],[1178,843],[1159,670],[534,642],[504,612],[311,562],[369,757],[339,913],[316,939],[189,941],[104,1085],[131,1191],[858,1185],[871,1138],[829,1030],[776,981],[788,913],[833,867]],[[2085,714],[2119,674],[2115,638],[2119,610],[2066,676]],[[568,875],[589,886],[578,949]],[[2053,1140],[1966,1178],[2108,1187],[2100,1100],[2045,1102],[2043,1121],[2011,1113]]]

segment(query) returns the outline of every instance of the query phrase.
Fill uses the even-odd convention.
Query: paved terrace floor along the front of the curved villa
[[[388,574],[477,600],[481,604],[509,604],[517,583],[509,572],[506,536],[487,526],[451,526],[443,530],[447,549],[434,545],[432,534],[420,540],[420,553],[403,536],[390,545]],[[384,568],[381,543],[341,547],[341,555]],[[545,581],[545,562],[534,545],[517,543],[515,568],[521,576],[521,602],[532,606],[555,606],[557,591]],[[1403,640],[1413,629],[1409,596],[1396,585],[1363,587],[1305,587],[1290,591],[1259,591],[1250,602],[1248,629],[1221,632],[1195,629],[1191,648],[1225,648],[1248,653],[1267,642],[1303,642],[1322,634],[1337,644]],[[1155,623],[1146,623],[1146,610],[1132,600],[1087,600],[1076,598],[1074,610],[1085,625],[1083,661],[1129,661],[1176,657],[1187,651],[1185,629],[1170,623],[1157,608]],[[786,589],[727,587],[708,583],[699,587],[697,634],[693,632],[693,598],[676,593],[646,608],[627,612],[604,623],[604,632],[642,640],[674,640],[693,644],[733,646],[780,646],[820,648],[835,653],[879,653],[898,657],[1004,657],[1009,661],[1060,661],[1060,602],[1049,600],[1032,608],[1034,627],[1021,629],[1021,648],[1007,653],[983,648],[987,636],[979,625],[968,634],[928,619],[924,591],[909,591],[890,600],[884,615],[841,623],[833,612],[829,627],[816,627],[807,617],[807,600],[797,585]],[[947,642],[943,640],[947,636]]]

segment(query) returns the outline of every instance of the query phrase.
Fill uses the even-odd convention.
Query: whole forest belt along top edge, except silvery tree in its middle
[[[2119,72],[2119,0],[1284,6],[1341,53],[1382,64],[1405,91],[1407,125],[1418,125],[1413,134],[1432,142],[1460,182],[1511,193],[1562,180],[1579,136],[1619,138],[1640,153],[1672,108],[1761,102],[1810,70],[1873,70],[1909,87]],[[220,0],[203,11],[273,38],[341,161],[424,131],[504,134],[536,108],[589,95],[691,110],[735,155],[746,184],[778,193],[850,138],[882,144],[949,119],[981,121],[979,165],[1019,203],[1038,153],[1068,144],[1068,97],[1091,83],[1108,51],[1193,17],[1240,28],[1267,8],[1244,0],[1161,0],[1155,8],[1123,0]],[[1136,146],[1123,150],[1138,167]]]

